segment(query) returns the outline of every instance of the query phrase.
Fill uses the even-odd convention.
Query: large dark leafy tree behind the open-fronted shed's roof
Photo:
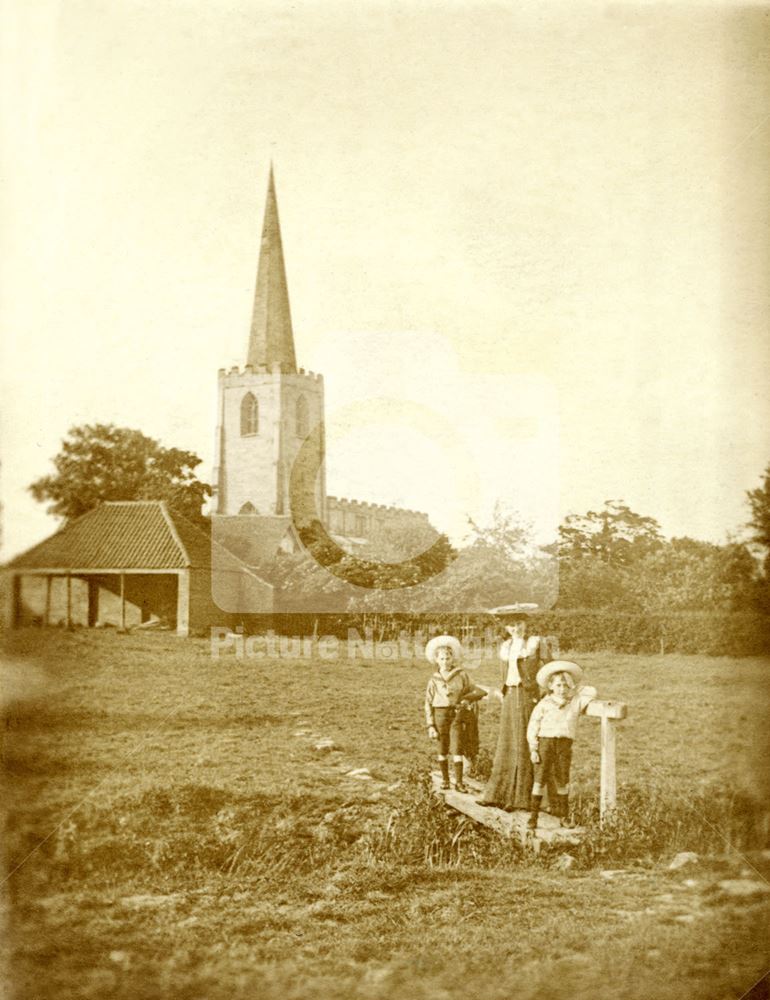
[[[56,473],[36,480],[29,491],[40,502],[50,501],[49,513],[67,520],[104,500],[165,500],[202,524],[211,487],[195,476],[200,462],[193,452],[165,448],[141,431],[84,424],[68,431],[53,459]]]

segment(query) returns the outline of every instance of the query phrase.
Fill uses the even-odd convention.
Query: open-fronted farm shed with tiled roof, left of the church
[[[178,635],[273,610],[273,588],[158,500],[103,503],[4,567],[4,623],[153,620]],[[216,602],[214,600],[216,596]]]

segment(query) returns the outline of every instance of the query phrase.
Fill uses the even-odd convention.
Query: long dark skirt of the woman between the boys
[[[500,713],[495,761],[480,802],[501,809],[529,809],[533,770],[527,723],[534,704],[532,693],[523,685],[507,689]]]

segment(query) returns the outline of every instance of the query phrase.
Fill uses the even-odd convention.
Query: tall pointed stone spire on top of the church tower
[[[246,363],[255,368],[272,368],[277,364],[282,371],[297,370],[272,163]]]

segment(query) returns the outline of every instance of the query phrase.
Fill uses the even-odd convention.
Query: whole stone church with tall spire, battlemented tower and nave
[[[247,562],[271,555],[260,541],[277,535],[292,551],[313,521],[348,551],[396,525],[428,526],[417,511],[326,493],[324,380],[297,367],[272,167],[246,363],[220,369],[217,412],[214,530]]]

